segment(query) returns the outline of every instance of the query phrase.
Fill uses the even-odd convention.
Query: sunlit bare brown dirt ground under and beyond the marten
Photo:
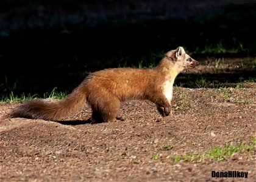
[[[229,65],[205,62],[186,73],[238,68]],[[124,121],[113,123],[88,123],[87,106],[60,122],[0,119],[0,181],[256,181],[255,147],[221,162],[172,161],[214,146],[250,144],[255,96],[255,83],[231,89],[174,87],[172,115],[165,118],[148,101],[127,101],[119,112]],[[0,103],[0,118],[17,104]],[[167,144],[172,149],[165,150]],[[212,170],[249,176],[212,178]]]

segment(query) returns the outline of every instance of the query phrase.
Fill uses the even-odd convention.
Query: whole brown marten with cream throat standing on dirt
[[[155,69],[118,68],[94,72],[65,99],[28,101],[16,107],[9,117],[63,120],[88,103],[93,123],[115,121],[120,103],[132,99],[152,101],[163,116],[168,116],[174,79],[184,68],[197,64],[178,47],[166,53]]]

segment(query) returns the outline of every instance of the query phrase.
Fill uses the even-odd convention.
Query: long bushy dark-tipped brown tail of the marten
[[[86,93],[82,86],[77,87],[66,98],[60,101],[45,101],[35,99],[17,106],[9,118],[30,118],[58,121],[71,116],[81,109],[86,101]]]

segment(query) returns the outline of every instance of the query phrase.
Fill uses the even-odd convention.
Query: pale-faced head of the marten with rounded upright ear
[[[194,68],[199,63],[190,57],[183,47],[178,47],[175,50],[170,50],[165,54],[165,58],[168,58],[169,61],[172,61],[175,66],[180,67],[180,69],[190,69]]]

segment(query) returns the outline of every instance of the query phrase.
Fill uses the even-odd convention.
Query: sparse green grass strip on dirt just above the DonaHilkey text
[[[235,153],[252,153],[256,150],[256,139],[252,138],[250,144],[241,143],[238,145],[215,146],[210,150],[202,153],[187,153],[185,155],[175,155],[172,157],[172,162],[179,163],[180,161],[200,162],[200,161],[213,161],[220,162],[226,161],[227,158],[232,157]]]

